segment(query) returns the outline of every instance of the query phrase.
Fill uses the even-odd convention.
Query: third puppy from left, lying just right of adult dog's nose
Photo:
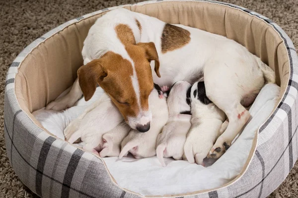
[[[151,157],[156,154],[156,138],[168,120],[168,107],[165,97],[160,97],[156,89],[152,90],[148,102],[152,113],[150,129],[146,133],[132,130],[121,143],[120,159],[126,156],[128,152],[132,153],[136,159]]]

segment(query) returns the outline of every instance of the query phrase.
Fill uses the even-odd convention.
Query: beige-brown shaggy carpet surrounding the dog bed
[[[40,2],[39,2],[40,1]],[[139,0],[136,0],[139,1]],[[3,137],[4,81],[9,64],[36,38],[83,14],[134,0],[0,0],[0,198],[34,196],[15,175]],[[298,49],[298,0],[223,0],[267,16],[279,24]],[[298,198],[298,163],[269,197]]]

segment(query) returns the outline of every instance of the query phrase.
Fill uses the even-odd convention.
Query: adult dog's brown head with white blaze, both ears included
[[[158,55],[153,43],[132,44],[125,49],[126,56],[108,51],[80,67],[77,71],[79,86],[87,101],[98,84],[131,128],[147,132],[152,119],[148,105],[153,89],[150,61],[155,61],[154,70],[160,77]]]

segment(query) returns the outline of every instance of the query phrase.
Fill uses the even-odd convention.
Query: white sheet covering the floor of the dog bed
[[[32,114],[49,132],[64,139],[63,131],[66,126],[92,101],[99,99],[102,93],[103,90],[98,87],[91,101],[86,102],[82,98],[73,107],[62,112],[43,108]],[[215,163],[214,160],[206,160],[207,167],[171,158],[165,158],[167,167],[162,167],[156,156],[138,160],[132,156],[121,160],[118,157],[105,157],[103,160],[119,186],[143,196],[186,194],[220,187],[241,172],[249,155],[255,131],[274,109],[279,93],[280,87],[276,84],[267,84],[262,88],[249,109],[252,119],[240,132],[241,135]],[[76,146],[82,147],[83,144]]]

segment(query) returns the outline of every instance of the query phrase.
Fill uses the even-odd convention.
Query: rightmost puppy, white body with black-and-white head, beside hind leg
[[[184,154],[190,163],[203,166],[203,159],[220,136],[225,120],[224,112],[206,96],[204,82],[197,82],[191,88],[191,128],[184,145]],[[227,147],[227,146],[226,146]],[[221,149],[221,148],[217,148]],[[227,149],[227,148],[225,148]],[[217,150],[221,152],[221,150]]]

